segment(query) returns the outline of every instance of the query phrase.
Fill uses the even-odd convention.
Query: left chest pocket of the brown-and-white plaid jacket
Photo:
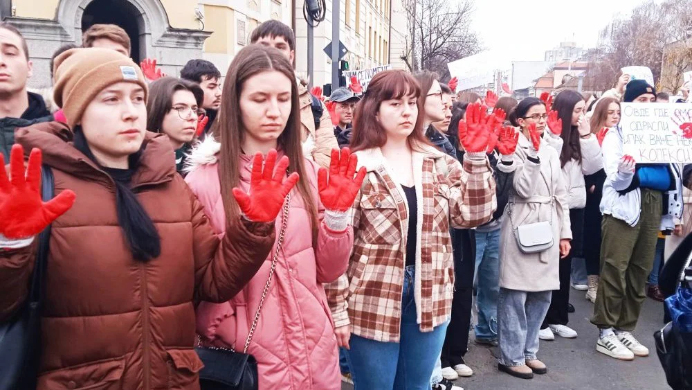
[[[360,205],[363,241],[373,245],[394,245],[401,241],[399,212],[391,195],[363,195]]]

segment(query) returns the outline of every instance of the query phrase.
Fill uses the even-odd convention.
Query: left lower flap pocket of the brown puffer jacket
[[[89,362],[39,375],[39,389],[120,390],[125,357]]]

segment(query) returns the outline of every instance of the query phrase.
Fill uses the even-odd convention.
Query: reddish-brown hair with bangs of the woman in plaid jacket
[[[353,116],[353,136],[349,147],[351,150],[379,148],[387,142],[387,132],[377,120],[380,104],[385,100],[400,99],[404,96],[418,96],[421,87],[413,76],[406,71],[392,70],[377,73],[361,102],[356,105]],[[408,146],[419,149],[420,145],[429,145],[428,139],[420,131],[425,113],[419,111],[415,127],[408,136]]]

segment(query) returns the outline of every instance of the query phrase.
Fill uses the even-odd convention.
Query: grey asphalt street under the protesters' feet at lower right
[[[465,360],[475,372],[471,378],[457,380],[457,386],[466,390],[670,389],[653,341],[653,333],[664,325],[662,303],[646,299],[637,330],[633,333],[641,344],[649,348],[650,355],[635,357],[632,362],[622,362],[596,352],[597,330],[589,322],[594,305],[584,299],[584,292],[570,289],[570,301],[576,312],[570,314],[568,325],[579,333],[579,337],[563,339],[556,336],[554,342],[540,342],[538,358],[548,366],[547,375],[522,380],[500,373],[495,360],[497,348],[475,344],[471,333]],[[347,384],[342,387],[342,390],[352,389]]]

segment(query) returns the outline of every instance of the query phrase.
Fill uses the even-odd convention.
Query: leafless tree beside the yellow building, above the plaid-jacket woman
[[[478,37],[469,26],[470,0],[404,0],[408,14],[406,52],[401,60],[410,71],[435,71],[449,78],[447,63],[480,51]]]

